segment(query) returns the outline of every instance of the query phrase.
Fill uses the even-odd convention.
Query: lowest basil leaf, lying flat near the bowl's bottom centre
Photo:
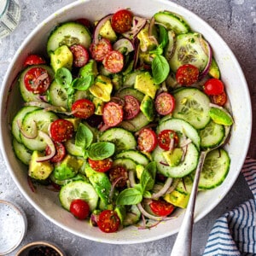
[[[116,204],[117,205],[136,205],[139,202],[143,201],[143,195],[141,191],[136,188],[124,189],[120,192],[117,197]]]

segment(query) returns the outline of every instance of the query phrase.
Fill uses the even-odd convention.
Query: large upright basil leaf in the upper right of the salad
[[[166,58],[156,55],[152,61],[152,74],[155,84],[164,82],[170,72],[170,66]]]

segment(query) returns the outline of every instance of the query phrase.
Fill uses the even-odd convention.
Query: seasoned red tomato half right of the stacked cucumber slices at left
[[[66,142],[73,137],[73,123],[65,119],[56,119],[49,126],[49,135],[54,142]]]

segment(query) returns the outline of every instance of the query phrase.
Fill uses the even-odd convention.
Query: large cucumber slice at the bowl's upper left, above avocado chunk
[[[91,35],[87,27],[77,22],[66,22],[56,26],[50,33],[47,42],[47,52],[55,51],[61,45],[70,47],[73,44],[82,44],[86,49],[90,47]]]

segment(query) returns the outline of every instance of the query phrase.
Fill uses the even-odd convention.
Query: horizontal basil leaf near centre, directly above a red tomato
[[[87,150],[88,157],[91,160],[103,160],[114,153],[115,146],[113,143],[100,142],[92,143]]]

